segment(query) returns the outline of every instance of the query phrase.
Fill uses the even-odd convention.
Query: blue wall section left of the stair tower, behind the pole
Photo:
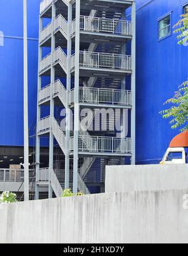
[[[29,127],[36,122],[40,0],[28,0]],[[1,0],[0,145],[23,146],[23,0]],[[32,144],[32,141],[31,141]]]

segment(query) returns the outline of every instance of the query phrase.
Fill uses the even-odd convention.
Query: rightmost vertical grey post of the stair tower
[[[132,112],[131,112],[131,137],[132,137],[132,159],[131,163],[135,164],[135,69],[136,69],[136,7],[135,1],[132,3],[132,43],[131,43],[131,55],[132,55],[132,76],[131,76],[131,88],[132,88]]]

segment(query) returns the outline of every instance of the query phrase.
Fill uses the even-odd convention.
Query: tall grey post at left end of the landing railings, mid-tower
[[[80,131],[79,77],[80,77],[80,0],[76,0],[75,33],[75,117],[74,117],[74,154],[73,154],[73,193],[78,191],[78,136]]]

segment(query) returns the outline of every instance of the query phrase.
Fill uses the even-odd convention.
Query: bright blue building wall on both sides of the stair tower
[[[158,40],[158,21],[172,11],[172,25],[187,0],[136,0],[137,3],[137,163],[159,163],[172,131],[159,111],[187,79],[188,48],[175,35]],[[36,121],[38,14],[40,0],[28,0],[29,127]],[[188,2],[188,1],[187,1]],[[1,0],[0,146],[23,146],[23,0]],[[32,143],[32,142],[31,142]]]

